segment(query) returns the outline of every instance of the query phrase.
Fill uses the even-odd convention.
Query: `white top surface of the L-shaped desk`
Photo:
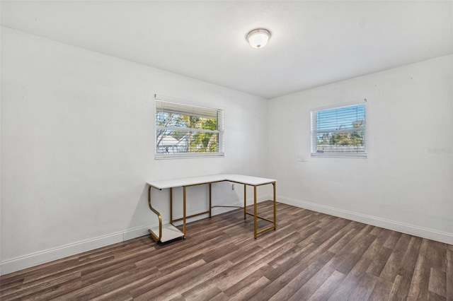
[[[251,177],[246,175],[207,175],[202,177],[186,177],[180,179],[166,179],[161,181],[147,182],[149,186],[157,189],[166,189],[171,187],[183,187],[198,184],[207,184],[212,182],[229,181],[247,185],[263,185],[277,182],[275,179],[266,179],[263,177]]]

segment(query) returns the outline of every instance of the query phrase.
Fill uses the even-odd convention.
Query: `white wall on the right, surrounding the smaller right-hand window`
[[[452,73],[449,55],[270,100],[277,199],[453,244]],[[368,158],[311,158],[311,108],[365,98]]]

